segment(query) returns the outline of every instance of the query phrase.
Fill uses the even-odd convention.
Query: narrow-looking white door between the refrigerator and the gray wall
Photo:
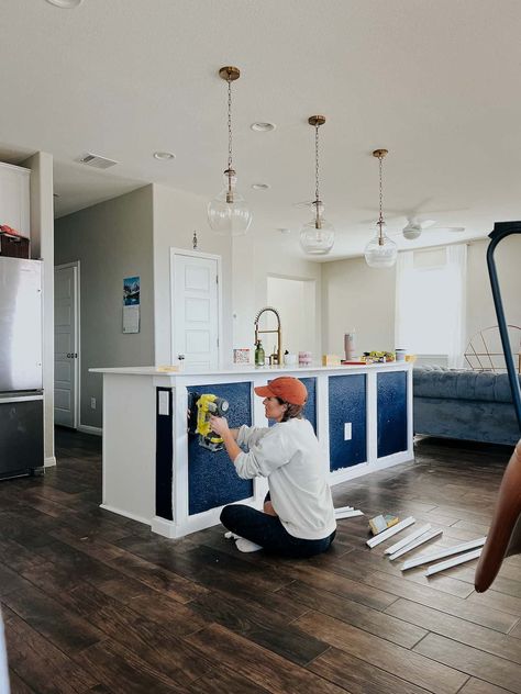
[[[78,267],[54,270],[54,422],[78,426]]]

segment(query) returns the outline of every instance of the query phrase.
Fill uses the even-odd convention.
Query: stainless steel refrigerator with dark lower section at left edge
[[[0,256],[0,479],[44,464],[42,265]]]

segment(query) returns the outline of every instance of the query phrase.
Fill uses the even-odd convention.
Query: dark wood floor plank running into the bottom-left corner
[[[9,665],[37,694],[76,694],[101,684],[9,608],[3,619]]]

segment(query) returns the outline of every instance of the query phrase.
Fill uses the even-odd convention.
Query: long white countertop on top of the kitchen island
[[[366,370],[381,370],[381,369],[408,369],[412,367],[412,362],[409,361],[388,361],[386,363],[368,363],[368,365],[341,365],[323,367],[320,365],[308,366],[271,366],[271,367],[254,367],[248,363],[231,363],[217,369],[198,369],[191,367],[184,367],[178,371],[169,371],[169,368],[174,367],[119,367],[119,368],[98,368],[89,369],[92,373],[113,373],[121,376],[166,376],[169,378],[176,377],[190,377],[190,376],[229,376],[229,374],[258,374],[263,373],[292,373],[298,377],[298,373],[309,373],[311,371],[317,372],[346,372],[346,371],[366,371]]]

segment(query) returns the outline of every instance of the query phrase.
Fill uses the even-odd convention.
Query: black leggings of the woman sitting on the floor
[[[333,530],[321,540],[303,540],[290,535],[278,516],[270,516],[242,504],[224,506],[221,523],[235,535],[260,545],[267,552],[291,558],[306,558],[324,552],[330,548],[336,534],[336,530]]]

